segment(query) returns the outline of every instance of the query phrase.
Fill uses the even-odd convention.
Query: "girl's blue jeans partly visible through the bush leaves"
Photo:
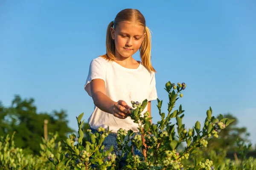
[[[95,129],[92,129],[92,128],[90,128],[90,130],[92,130],[92,133],[98,132],[98,130],[95,130]],[[100,134],[102,134],[102,132],[100,132]],[[135,132],[133,136],[135,136],[136,134],[140,134],[140,133]],[[122,155],[122,150],[118,149],[116,138],[117,138],[117,133],[109,133],[108,136],[105,138],[104,142],[102,143],[105,146],[103,151],[105,152],[106,150],[109,150],[111,145],[113,145],[113,149],[114,149],[113,153],[115,153],[116,156],[121,156]],[[129,136],[125,136],[124,141],[126,141],[128,139],[129,139]],[[89,135],[88,135],[88,141],[91,142]],[[128,146],[131,146],[131,141],[129,141]],[[139,157],[143,157],[143,154],[141,153],[141,151],[139,149],[137,149],[136,146],[134,146],[133,151],[134,151],[134,155],[138,155]],[[125,153],[124,157],[122,157],[121,160],[119,161],[119,168],[121,168],[122,166],[125,166],[126,158],[127,158],[127,153]]]

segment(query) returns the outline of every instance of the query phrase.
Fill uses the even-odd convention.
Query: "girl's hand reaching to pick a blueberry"
[[[113,105],[113,115],[120,119],[125,119],[131,113],[130,108],[125,101],[119,100]]]

